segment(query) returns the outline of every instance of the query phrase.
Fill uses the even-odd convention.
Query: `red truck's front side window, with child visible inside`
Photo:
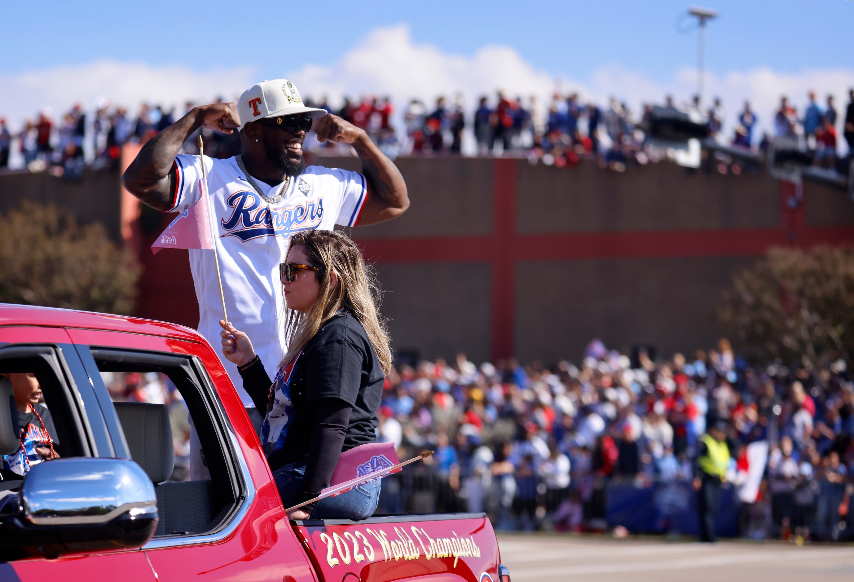
[[[3,451],[0,508],[15,495],[15,481],[33,465],[69,456],[90,456],[78,414],[79,402],[56,346],[11,345],[0,348],[0,395],[15,412],[20,442]],[[13,425],[14,426],[14,425]]]

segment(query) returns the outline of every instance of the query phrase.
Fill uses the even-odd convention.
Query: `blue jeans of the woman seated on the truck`
[[[289,463],[273,471],[278,494],[285,509],[295,505],[302,491],[306,466],[300,462]],[[380,482],[368,481],[335,497],[321,499],[312,511],[313,520],[366,520],[373,515],[379,501]]]

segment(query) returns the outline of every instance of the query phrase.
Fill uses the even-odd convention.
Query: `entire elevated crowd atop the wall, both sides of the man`
[[[707,107],[699,97],[689,103],[676,104],[672,97],[664,104],[644,104],[640,112],[627,103],[611,98],[607,106],[584,101],[577,93],[555,93],[550,103],[536,97],[510,97],[498,91],[494,98],[481,97],[473,111],[466,111],[461,95],[453,103],[438,97],[430,107],[412,99],[401,115],[395,115],[390,97],[364,96],[358,100],[343,98],[333,108],[324,97],[306,98],[306,104],[340,115],[368,133],[389,156],[477,155],[527,156],[531,163],[557,167],[574,167],[584,157],[598,159],[600,165],[617,171],[635,165],[657,162],[673,156],[672,144],[662,144],[650,136],[652,115],[683,115],[699,126],[705,126],[711,141],[736,150],[762,152],[775,138],[798,140],[814,153],[815,163],[822,168],[837,168],[840,134],[854,151],[854,90],[849,103],[839,110],[833,95],[819,103],[814,91],[798,111],[787,97],[781,97],[773,119],[773,131],[757,135],[758,117],[750,103],[744,103],[735,116],[737,122],[727,130],[724,105],[719,98]],[[217,97],[222,101],[222,97]],[[31,172],[48,171],[67,179],[79,179],[85,165],[93,168],[118,164],[120,148],[127,142],[143,144],[156,132],[173,123],[193,107],[185,103],[182,111],[161,105],[143,103],[135,115],[107,102],[97,103],[90,112],[82,106],[55,119],[44,109],[20,128],[9,129],[0,118],[0,169],[9,165],[13,145],[20,151],[24,166]],[[395,126],[400,124],[401,126]],[[240,152],[237,135],[204,130],[206,152],[215,157],[230,157]],[[469,147],[465,147],[465,140]],[[195,137],[184,150],[197,153]],[[320,155],[349,154],[348,147],[320,144],[313,133],[307,138],[306,150]],[[713,164],[722,173],[740,173],[743,163],[718,157],[723,163]],[[841,168],[841,165],[839,166]],[[847,168],[843,168],[847,172]]]

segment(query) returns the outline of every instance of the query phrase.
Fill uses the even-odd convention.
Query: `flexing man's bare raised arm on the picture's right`
[[[407,184],[401,171],[365,130],[342,120],[337,115],[324,115],[314,124],[319,140],[352,144],[362,161],[362,173],[368,181],[368,199],[362,210],[360,226],[369,226],[397,218],[409,208]]]

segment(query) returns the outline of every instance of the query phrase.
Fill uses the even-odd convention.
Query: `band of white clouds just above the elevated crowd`
[[[430,44],[416,44],[406,25],[369,32],[329,66],[309,64],[280,74],[294,80],[306,96],[328,95],[332,103],[340,103],[343,95],[390,95],[399,111],[412,97],[421,98],[429,106],[436,97],[453,98],[457,92],[462,93],[471,111],[477,97],[494,97],[497,89],[512,97],[536,95],[541,103],[547,103],[557,89],[578,91],[583,99],[600,104],[614,96],[626,100],[637,114],[643,102],[660,103],[670,93],[677,103],[687,103],[696,91],[696,73],[691,68],[676,71],[664,83],[618,64],[604,64],[589,79],[566,79],[535,68],[508,46],[484,46],[471,56],[459,56]],[[178,105],[180,111],[187,99],[208,101],[215,95],[234,98],[259,80],[255,76],[250,68],[200,73],[180,66],[113,61],[49,68],[0,76],[0,115],[6,115],[16,128],[25,117],[45,106],[61,112],[79,102],[90,109],[98,97],[123,104],[132,112],[143,101]],[[803,110],[809,89],[819,94],[822,103],[830,92],[836,96],[841,114],[851,85],[854,68],[814,68],[796,73],[779,73],[770,68],[734,69],[720,76],[707,73],[705,95],[707,101],[709,97],[722,97],[728,127],[732,127],[744,100],[749,99],[765,129],[770,127],[781,95],[786,94]]]

